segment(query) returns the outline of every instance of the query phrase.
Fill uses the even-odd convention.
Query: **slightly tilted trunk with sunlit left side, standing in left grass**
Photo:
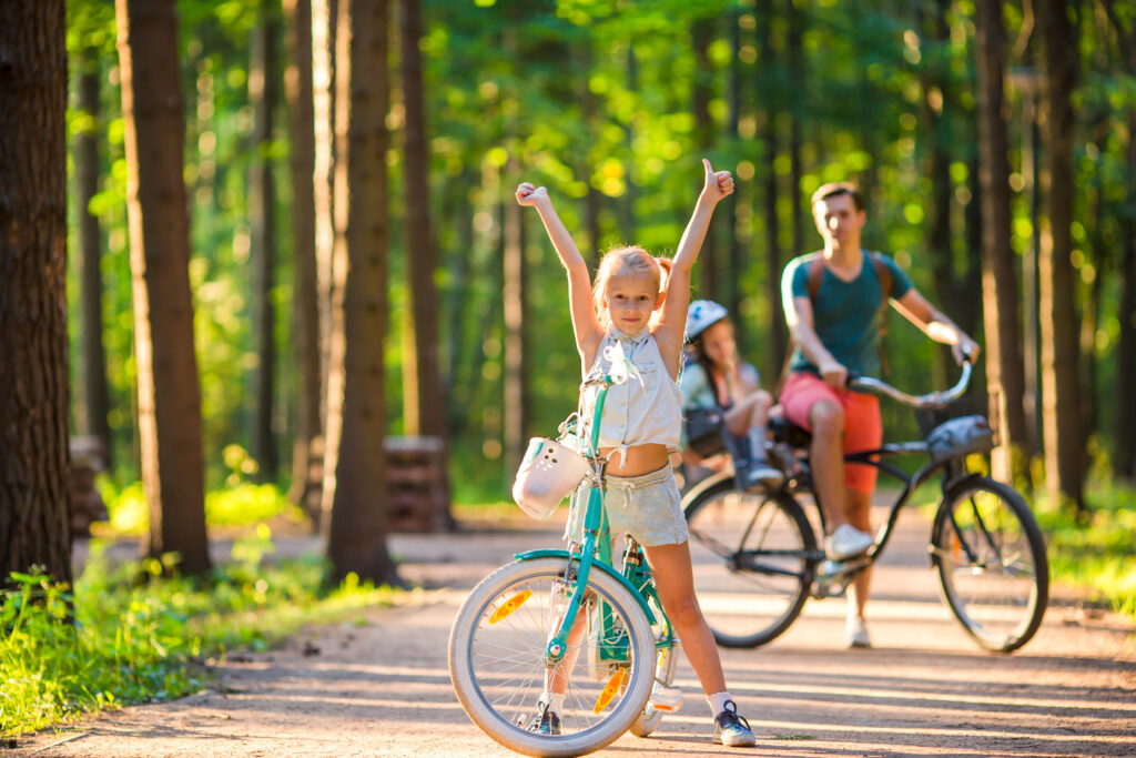
[[[117,0],[148,555],[209,569],[174,1]],[[135,61],[145,61],[136,65]]]

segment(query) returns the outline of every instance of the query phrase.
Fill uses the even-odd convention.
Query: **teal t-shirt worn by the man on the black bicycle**
[[[809,297],[809,266],[819,255],[809,252],[790,261],[782,275],[783,299]],[[844,367],[859,374],[879,376],[879,320],[883,317],[884,288],[868,255],[861,255],[863,265],[859,276],[851,282],[837,278],[825,268],[812,303],[812,324],[820,343]],[[888,297],[897,300],[911,289],[911,277],[889,256],[882,255],[880,259],[892,272]],[[820,373],[800,347],[793,349],[790,370]]]

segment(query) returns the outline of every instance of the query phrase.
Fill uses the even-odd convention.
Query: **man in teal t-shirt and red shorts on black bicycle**
[[[844,465],[844,453],[871,450],[883,441],[879,401],[850,392],[849,372],[878,376],[880,319],[885,298],[930,339],[950,344],[958,361],[978,345],[916,291],[887,256],[860,248],[867,220],[863,200],[847,182],[825,184],[812,195],[812,217],[825,248],[792,260],[782,276],[785,320],[794,342],[780,394],[786,417],[812,432],[813,486],[825,510],[825,552],[846,560],[872,544],[869,523],[876,469]],[[849,594],[849,647],[871,645],[864,623],[870,567]]]

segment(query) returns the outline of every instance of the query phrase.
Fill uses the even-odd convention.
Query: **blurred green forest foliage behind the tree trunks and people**
[[[269,3],[270,6],[272,3]],[[942,27],[937,15],[942,14]],[[1024,18],[1005,3],[1006,35],[1019,39]],[[249,447],[250,372],[256,365],[250,326],[250,233],[247,198],[251,149],[250,40],[262,23],[257,3],[178,3],[183,97],[186,114],[185,178],[190,195],[191,281],[201,376],[207,489],[232,476],[231,445]],[[745,357],[766,374],[779,303],[766,283],[779,276],[766,259],[766,233],[779,230],[780,265],[812,249],[818,238],[805,200],[824,181],[855,178],[868,191],[868,247],[894,253],[920,291],[947,315],[969,318],[970,302],[952,301],[938,288],[936,251],[928,249],[935,220],[929,156],[950,161],[950,268],[953,294],[980,285],[968,278],[978,263],[976,94],[972,2],[939,6],[822,2],[761,3],[666,0],[620,3],[594,0],[438,0],[423,8],[421,41],[431,164],[428,201],[437,243],[438,317],[444,384],[450,403],[452,468],[459,497],[474,501],[507,494],[502,467],[503,344],[501,316],[502,213],[521,180],[548,185],[585,256],[616,243],[637,242],[659,253],[677,245],[701,176],[703,155],[738,177],[737,193],[721,206],[711,232],[719,265],[732,239],[738,256],[725,278],[738,294],[740,341]],[[1130,30],[1134,13],[1121,3],[1112,17],[1083,14],[1075,145],[1077,186],[1075,266],[1078,297],[1095,322],[1084,335],[1095,360],[1089,375],[1099,398],[1117,392],[1120,335],[1119,251],[1133,210],[1128,119],[1136,76],[1122,63],[1117,25]],[[707,56],[695,50],[694,28],[709,28]],[[1122,31],[1121,30],[1121,31]],[[112,8],[100,0],[68,2],[68,52],[74,65],[93,57],[102,83],[102,113],[93,119],[72,110],[72,133],[95,128],[103,176],[91,205],[105,230],[103,344],[111,393],[110,424],[119,485],[134,469],[135,368],[132,357],[131,270],[125,218],[126,166],[117,83]],[[737,39],[737,50],[733,40]],[[283,35],[283,31],[282,31]],[[279,49],[283,45],[283,36]],[[799,44],[799,47],[796,47]],[[395,45],[396,47],[396,45]],[[396,50],[394,56],[396,58]],[[1013,58],[1013,56],[1011,56]],[[398,72],[393,60],[392,72]],[[1011,59],[1011,66],[1028,60]],[[86,64],[84,64],[86,65]],[[277,72],[279,75],[279,72]],[[77,81],[77,76],[72,76]],[[1027,95],[1011,76],[1006,88],[1010,160],[1017,190],[1012,244],[1025,257],[1034,225],[1022,174]],[[736,90],[732,83],[736,82]],[[693,108],[695,88],[708,99],[709,123]],[[395,86],[395,91],[398,86]],[[395,97],[398,102],[398,97]],[[864,107],[870,103],[870,107]],[[733,126],[732,113],[737,126]],[[291,330],[290,150],[283,108],[269,149],[275,158],[281,241],[273,293],[277,303],[277,403],[279,450],[291,449],[291,391],[296,384]],[[399,149],[402,113],[394,130],[391,168],[391,323],[386,340],[387,402],[392,433],[402,430],[403,336],[407,259],[402,219],[407,167]],[[770,123],[776,144],[765,139]],[[792,127],[792,128],[791,128]],[[795,136],[794,136],[795,135]],[[790,141],[800,144],[799,177]],[[794,185],[794,178],[796,184]],[[778,189],[772,215],[766,186]],[[585,199],[598,194],[599,239],[587,239]],[[72,209],[74,218],[74,209]],[[525,216],[529,303],[526,356],[531,434],[549,434],[575,406],[578,360],[573,350],[563,273],[535,218]],[[72,234],[72,240],[77,235]],[[695,294],[710,294],[708,258],[694,273]],[[76,259],[76,256],[72,256]],[[1024,264],[1028,263],[1024,258]],[[74,276],[70,277],[74,280]],[[945,292],[951,292],[946,289]],[[73,370],[82,367],[77,288],[69,283]],[[900,318],[889,319],[891,381],[912,392],[945,385],[941,351]],[[1088,327],[1086,327],[1087,330]],[[984,388],[977,388],[979,392]],[[77,393],[76,393],[77,397]],[[885,403],[889,439],[916,433],[907,411]],[[1096,414],[1108,445],[1118,423]],[[286,456],[282,456],[286,458]],[[285,472],[286,474],[286,472]],[[251,495],[241,495],[251,497]]]

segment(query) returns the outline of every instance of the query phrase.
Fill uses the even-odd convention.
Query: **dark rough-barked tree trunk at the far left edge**
[[[0,3],[0,586],[72,581],[62,0]]]

